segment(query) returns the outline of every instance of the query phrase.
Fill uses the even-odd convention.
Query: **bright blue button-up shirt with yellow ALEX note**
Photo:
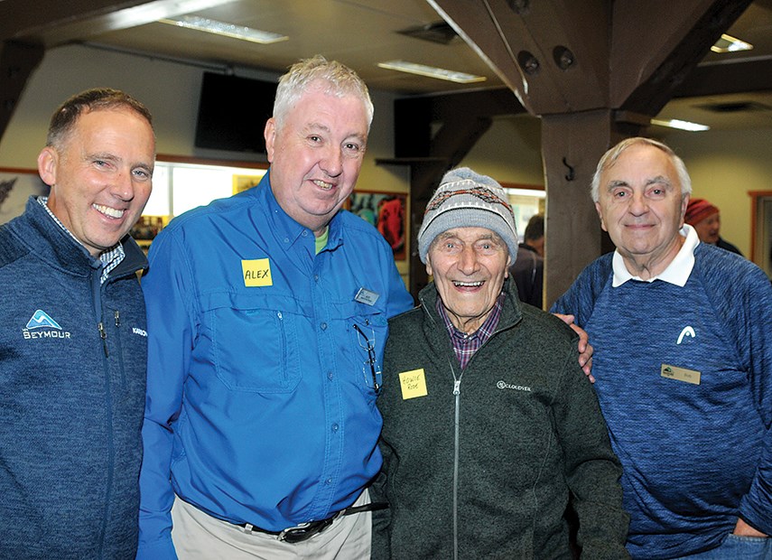
[[[174,493],[278,531],[348,507],[381,466],[367,341],[379,371],[386,321],[413,299],[349,212],[315,255],[269,175],[153,241],[140,557],[174,556]]]

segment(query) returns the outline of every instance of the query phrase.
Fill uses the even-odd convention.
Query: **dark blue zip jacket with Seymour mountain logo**
[[[147,261],[122,243],[100,283],[33,198],[0,227],[0,558],[135,557]]]

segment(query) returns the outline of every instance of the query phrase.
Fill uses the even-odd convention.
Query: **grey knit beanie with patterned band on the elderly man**
[[[507,194],[498,182],[469,167],[445,173],[432,200],[426,205],[418,231],[418,254],[426,264],[426,254],[434,238],[453,228],[486,228],[495,231],[517,256],[517,228]]]

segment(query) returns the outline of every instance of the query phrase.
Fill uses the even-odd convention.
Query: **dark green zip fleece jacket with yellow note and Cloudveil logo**
[[[463,370],[433,284],[389,322],[371,492],[390,509],[373,514],[374,558],[571,558],[570,498],[582,556],[628,558],[621,468],[577,337],[504,289],[495,333]]]

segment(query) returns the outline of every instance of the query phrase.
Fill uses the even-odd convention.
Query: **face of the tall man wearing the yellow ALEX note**
[[[312,84],[284,117],[265,125],[271,188],[295,221],[321,235],[354,190],[367,145],[367,113],[353,95]]]

